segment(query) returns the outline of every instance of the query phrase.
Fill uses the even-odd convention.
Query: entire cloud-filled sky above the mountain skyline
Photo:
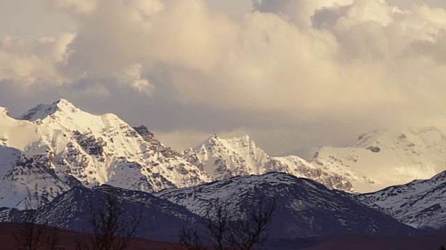
[[[446,117],[444,0],[0,0],[0,106],[272,155]]]

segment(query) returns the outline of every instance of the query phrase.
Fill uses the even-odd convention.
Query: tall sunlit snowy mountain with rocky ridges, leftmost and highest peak
[[[0,111],[0,144],[10,148],[1,150],[1,185],[9,189],[3,189],[0,207],[22,206],[36,180],[48,200],[79,183],[153,192],[213,180],[147,128],[132,128],[116,115],[91,115],[63,99],[36,106],[19,119]],[[45,170],[29,174],[37,171],[31,163]],[[6,182],[11,178],[15,181]],[[6,197],[9,192],[17,193],[14,199]]]

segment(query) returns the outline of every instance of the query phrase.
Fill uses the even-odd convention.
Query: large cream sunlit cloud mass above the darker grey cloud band
[[[248,132],[276,124],[289,131],[305,122],[360,129],[446,115],[445,8],[263,0],[233,19],[205,0],[54,0],[52,6],[79,20],[75,38],[22,47],[3,41],[0,77],[24,85],[91,81],[100,92],[125,86],[140,98],[271,117],[252,115],[264,126],[245,126]]]

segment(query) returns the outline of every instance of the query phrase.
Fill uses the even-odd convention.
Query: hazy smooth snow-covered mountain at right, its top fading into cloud
[[[351,147],[323,147],[311,163],[344,176],[357,192],[426,179],[446,170],[445,128],[364,133]]]

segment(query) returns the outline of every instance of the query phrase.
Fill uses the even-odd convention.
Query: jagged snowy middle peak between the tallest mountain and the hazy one
[[[328,188],[354,192],[351,183],[337,174],[328,174],[298,156],[270,157],[248,135],[222,139],[213,135],[195,149],[183,152],[193,165],[204,169],[216,180],[233,176],[285,172],[311,178]]]

